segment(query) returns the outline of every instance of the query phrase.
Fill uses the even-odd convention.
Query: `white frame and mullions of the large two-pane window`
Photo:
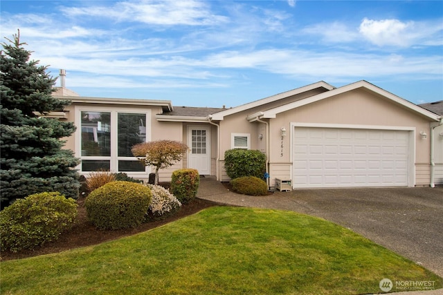
[[[82,112],[103,112],[111,113],[111,155],[110,156],[84,156],[82,155]],[[136,113],[146,115],[146,142],[151,141],[151,109],[141,108],[109,108],[105,106],[75,106],[75,157],[80,160],[109,160],[109,171],[118,173],[119,160],[136,160],[136,157],[121,157],[118,156],[118,113]],[[91,171],[82,171],[82,163],[76,167],[79,173],[86,175]],[[151,172],[150,166],[145,167],[145,171],[121,171],[128,175],[147,175]]]

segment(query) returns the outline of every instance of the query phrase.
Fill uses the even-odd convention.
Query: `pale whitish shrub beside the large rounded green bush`
[[[168,189],[160,185],[147,184],[152,191],[152,201],[147,211],[149,220],[161,220],[179,211],[181,202]]]

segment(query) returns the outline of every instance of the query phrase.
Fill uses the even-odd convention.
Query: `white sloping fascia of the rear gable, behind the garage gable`
[[[330,84],[327,84],[324,81],[316,82],[314,84],[309,84],[307,86],[302,86],[300,88],[293,89],[291,91],[286,91],[284,93],[278,93],[276,95],[265,97],[263,99],[256,100],[255,102],[249,102],[248,104],[243,104],[241,106],[236,106],[235,108],[229,108],[226,111],[221,111],[221,112],[218,112],[218,113],[214,113],[213,114],[213,120],[221,121],[227,115],[232,115],[232,114],[235,114],[235,113],[238,113],[238,112],[241,112],[241,111],[248,110],[249,108],[255,108],[257,106],[262,106],[264,104],[269,104],[269,102],[275,102],[276,100],[283,99],[285,97],[289,97],[289,96],[292,96],[292,95],[297,95],[297,94],[300,94],[300,93],[304,93],[304,92],[307,92],[307,91],[311,91],[311,90],[314,90],[314,89],[320,88],[320,87],[326,88],[329,91],[335,88],[334,86],[332,86]]]

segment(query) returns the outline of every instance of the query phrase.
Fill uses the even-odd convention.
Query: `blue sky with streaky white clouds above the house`
[[[238,106],[323,80],[443,99],[443,1],[4,1],[1,37],[82,96]],[[4,40],[4,39],[3,39]],[[57,82],[57,86],[58,86]]]

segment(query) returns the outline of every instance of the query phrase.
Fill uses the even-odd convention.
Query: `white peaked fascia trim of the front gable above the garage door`
[[[300,99],[296,102],[291,102],[291,103],[285,104],[283,106],[278,106],[276,108],[271,108],[266,111],[260,111],[260,112],[254,113],[253,115],[249,115],[247,117],[247,120],[249,122],[254,122],[257,119],[262,119],[262,118],[275,118],[278,113],[289,111],[293,108],[298,108],[300,106],[305,106],[305,105],[311,104],[313,102],[318,102],[320,100],[326,99],[328,97],[332,97],[334,95],[339,95],[341,93],[346,93],[348,91],[354,91],[359,88],[364,88],[365,90],[372,91],[373,93],[376,93],[378,95],[386,97],[387,99],[390,99],[392,102],[395,102],[401,106],[404,106],[405,108],[408,108],[411,111],[419,113],[419,115],[427,117],[428,119],[431,119],[431,120],[437,121],[437,122],[440,121],[439,115],[436,115],[435,113],[432,113],[420,106],[417,106],[416,104],[413,104],[412,102],[408,102],[406,99],[403,99],[401,97],[398,97],[397,95],[394,95],[388,91],[385,91],[384,89],[379,88],[379,87],[375,86],[374,84],[370,84],[369,82],[367,82],[365,80],[361,80],[359,82],[348,84],[348,85],[345,85],[342,87],[334,88],[334,89],[327,91],[325,93],[320,93],[318,95],[306,97],[305,99]]]

